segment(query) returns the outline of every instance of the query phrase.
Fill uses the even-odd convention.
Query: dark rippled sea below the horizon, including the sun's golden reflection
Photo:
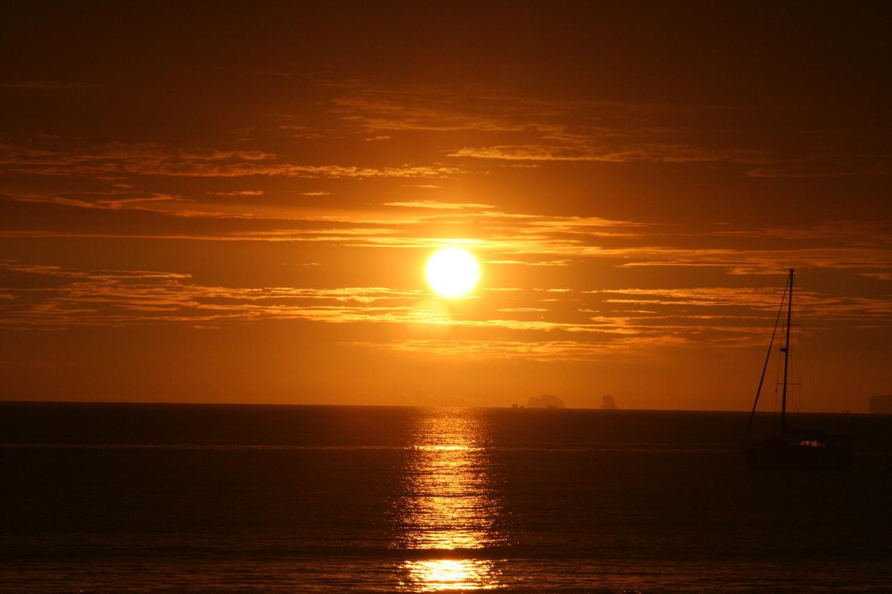
[[[0,591],[892,590],[892,417],[799,420],[849,473],[739,413],[0,403]]]

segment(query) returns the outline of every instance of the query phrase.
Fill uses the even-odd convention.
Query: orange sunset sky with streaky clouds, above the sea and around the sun
[[[743,409],[789,267],[802,408],[892,392],[880,4],[0,17],[0,398]]]

